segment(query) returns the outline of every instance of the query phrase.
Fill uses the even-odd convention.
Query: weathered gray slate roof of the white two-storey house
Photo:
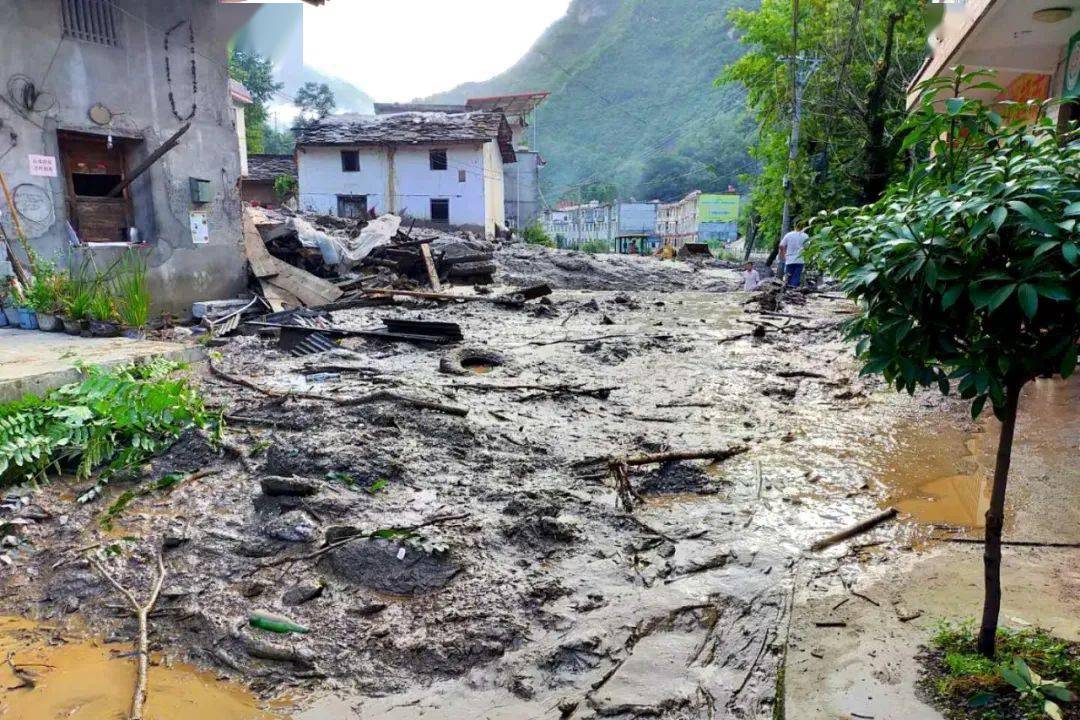
[[[296,145],[453,145],[497,141],[503,162],[515,160],[513,132],[501,112],[402,112],[329,116],[300,130]]]

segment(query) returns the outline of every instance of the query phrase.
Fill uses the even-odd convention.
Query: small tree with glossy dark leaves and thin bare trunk
[[[955,386],[972,417],[990,403],[1001,420],[978,635],[993,656],[1021,390],[1077,366],[1080,140],[1040,106],[1014,106],[1009,121],[971,99],[975,87],[1000,90],[985,74],[960,68],[921,86],[904,142],[930,159],[877,203],[823,215],[811,253],[859,303],[850,336],[864,373],[908,393]]]

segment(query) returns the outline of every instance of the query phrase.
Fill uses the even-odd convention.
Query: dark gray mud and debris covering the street
[[[284,697],[292,717],[772,717],[789,633],[788,678],[818,642],[788,629],[793,606],[837,565],[807,547],[894,500],[882,458],[959,408],[859,379],[835,297],[769,315],[715,291],[738,285],[717,268],[519,254],[500,259],[500,280],[563,262],[555,284],[578,289],[525,308],[399,301],[333,316],[460,323],[456,348],[349,339],[296,358],[255,334],[215,349],[216,367],[271,394],[339,402],[203,372],[251,470],[185,437],[144,479],[213,474],[136,499],[111,528],[105,503],[43,488],[13,511],[31,522],[0,585],[6,611],[130,638],[79,549],[114,546],[110,570],[146,587],[164,539],[163,660]],[[596,277],[607,289],[588,289]],[[396,395],[348,400],[376,391]],[[645,499],[632,514],[584,463],[706,448],[739,452],[632,468]],[[920,533],[897,522],[873,540],[892,568]],[[878,561],[862,559],[850,572],[874,582]],[[311,631],[254,630],[257,609]]]

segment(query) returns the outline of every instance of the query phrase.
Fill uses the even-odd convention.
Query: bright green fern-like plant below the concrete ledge
[[[120,368],[83,368],[82,382],[44,397],[0,405],[0,485],[38,483],[48,473],[97,474],[80,501],[110,475],[164,450],[183,432],[215,424],[199,393],[157,359]]]

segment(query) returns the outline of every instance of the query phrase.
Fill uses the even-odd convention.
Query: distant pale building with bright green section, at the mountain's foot
[[[737,194],[694,190],[683,200],[660,204],[657,233],[676,249],[686,243],[732,243],[739,239],[739,203]]]

